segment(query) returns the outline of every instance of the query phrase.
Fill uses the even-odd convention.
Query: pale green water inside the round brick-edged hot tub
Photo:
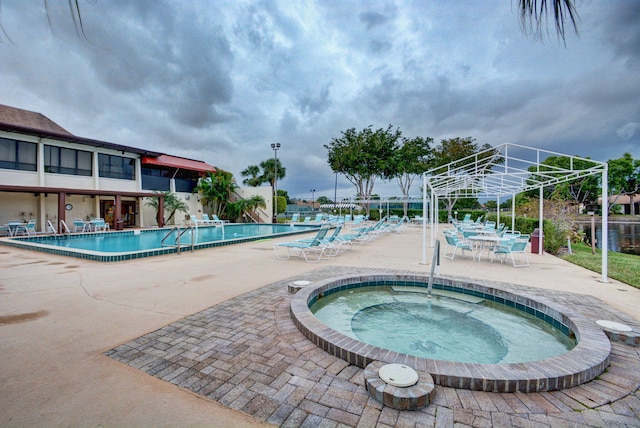
[[[346,336],[421,358],[522,363],[561,355],[576,345],[533,315],[487,300],[465,300],[363,287],[331,293],[310,309]]]

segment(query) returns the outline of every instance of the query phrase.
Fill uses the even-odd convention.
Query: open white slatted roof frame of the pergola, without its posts
[[[566,167],[543,164],[549,156],[565,157]],[[424,173],[429,192],[438,197],[512,196],[572,181],[607,169],[605,162],[547,150],[502,144]],[[426,189],[425,189],[426,190]]]

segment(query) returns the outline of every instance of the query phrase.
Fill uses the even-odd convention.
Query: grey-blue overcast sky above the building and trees
[[[80,0],[83,40],[67,0],[50,0],[51,26],[44,1],[2,0],[0,103],[239,182],[279,142],[278,188],[303,199],[333,199],[324,145],[369,125],[640,158],[640,2],[576,0],[566,46],[524,35],[516,4]]]

